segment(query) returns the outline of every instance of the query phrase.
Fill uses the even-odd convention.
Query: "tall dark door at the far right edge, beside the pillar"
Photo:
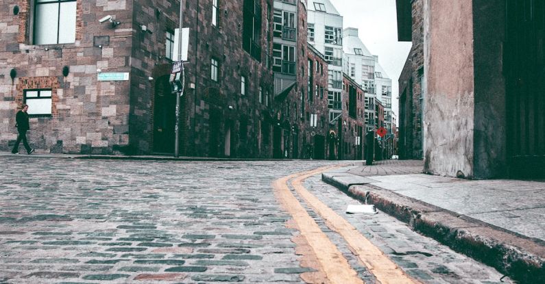
[[[545,177],[545,7],[506,0],[507,153],[511,177]]]

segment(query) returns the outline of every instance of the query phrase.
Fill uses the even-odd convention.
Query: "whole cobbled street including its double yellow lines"
[[[347,205],[359,203],[322,182],[316,169],[353,162],[38,155],[0,162],[0,283],[500,283],[502,277],[382,212],[346,214]],[[336,280],[345,276],[351,280]]]

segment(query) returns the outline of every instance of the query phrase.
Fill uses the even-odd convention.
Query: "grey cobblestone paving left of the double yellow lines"
[[[0,283],[301,283],[271,183],[338,164],[0,163]]]

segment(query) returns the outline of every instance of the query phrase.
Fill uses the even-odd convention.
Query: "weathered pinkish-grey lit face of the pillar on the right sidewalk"
[[[472,0],[428,1],[424,171],[474,175],[474,50]]]

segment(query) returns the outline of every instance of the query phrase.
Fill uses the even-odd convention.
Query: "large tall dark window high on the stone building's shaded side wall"
[[[242,47],[261,61],[261,6],[257,0],[244,0]]]

